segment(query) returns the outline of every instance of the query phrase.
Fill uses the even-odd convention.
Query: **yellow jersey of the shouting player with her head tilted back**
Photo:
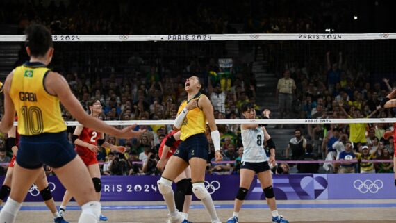
[[[204,94],[199,94],[195,99],[201,98]],[[181,103],[179,107],[179,111],[177,115],[181,113],[184,107],[188,104],[189,101],[185,100]],[[181,125],[181,135],[180,139],[184,141],[185,139],[189,138],[191,135],[197,135],[199,133],[205,133],[206,129],[206,116],[204,111],[201,108],[195,108],[188,111],[183,124]]]

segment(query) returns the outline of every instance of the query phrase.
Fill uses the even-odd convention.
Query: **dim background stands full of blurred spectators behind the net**
[[[174,1],[169,5],[122,0],[1,1],[0,33],[21,34],[32,23],[45,24],[53,34],[76,35],[324,33],[327,29],[356,33],[366,19],[373,24],[365,26],[365,32],[383,32],[383,26],[377,24],[381,19],[366,18],[363,12],[378,6],[376,12],[383,13],[383,7],[395,3],[376,2],[199,1],[191,5]],[[387,28],[395,31],[395,21]],[[185,79],[192,75],[203,81],[203,93],[212,101],[215,119],[241,119],[240,107],[246,102],[255,104],[257,118],[263,109],[270,109],[271,118],[277,119],[386,118],[394,117],[395,112],[379,104],[396,88],[395,46],[393,40],[56,42],[49,67],[65,75],[85,110],[90,100],[99,99],[103,120],[174,119],[186,97]],[[3,53],[12,61],[11,66],[0,63],[7,72],[27,60],[18,42],[1,42],[0,49],[0,54],[16,52],[14,56]],[[66,110],[63,117],[74,120]],[[224,160],[229,162],[212,163],[211,144],[207,172],[238,174],[243,153],[240,126],[218,127]],[[277,160],[330,161],[348,155],[356,160],[391,160],[393,137],[384,138],[384,133],[392,128],[392,124],[383,123],[267,126],[277,144]],[[131,140],[106,136],[110,144],[127,150],[120,154],[101,148],[97,157],[102,174],[160,174],[156,168],[158,148],[172,126],[140,125],[136,129],[147,132]],[[67,131],[71,140],[74,128],[69,126]],[[6,138],[1,135],[0,163],[10,160]],[[211,142],[210,135],[208,140]],[[393,164],[280,163],[273,172],[393,172]]]

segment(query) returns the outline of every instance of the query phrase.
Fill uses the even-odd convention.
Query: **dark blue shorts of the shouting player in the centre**
[[[177,147],[176,151],[174,151],[173,156],[179,156],[188,163],[188,160],[193,157],[208,160],[208,154],[208,139],[204,133],[199,133],[196,135],[191,135],[189,138],[181,141],[179,147]]]

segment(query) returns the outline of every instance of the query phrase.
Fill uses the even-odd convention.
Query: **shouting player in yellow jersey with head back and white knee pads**
[[[174,126],[181,129],[181,144],[170,157],[167,167],[158,183],[158,190],[163,195],[170,212],[170,222],[187,222],[183,215],[176,210],[172,181],[185,170],[191,167],[192,192],[204,203],[213,223],[220,222],[215,210],[211,195],[205,188],[205,168],[208,159],[208,140],[206,139],[206,121],[211,128],[211,137],[215,146],[216,161],[222,160],[220,154],[220,133],[217,131],[213,106],[208,97],[200,93],[201,82],[197,76],[185,81],[187,100],[181,103]]]

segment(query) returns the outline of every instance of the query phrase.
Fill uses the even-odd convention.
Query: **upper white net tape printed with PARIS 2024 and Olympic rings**
[[[391,40],[396,33],[245,33],[183,35],[52,35],[60,42],[224,41],[224,40]],[[24,35],[0,35],[1,42],[23,42]]]

